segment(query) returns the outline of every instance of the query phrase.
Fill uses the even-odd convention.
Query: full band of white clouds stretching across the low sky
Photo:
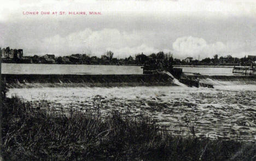
[[[213,57],[215,54],[242,57],[246,53],[253,53],[250,47],[253,43],[245,44],[234,41],[207,43],[203,38],[191,36],[174,39],[174,42],[165,42],[165,45],[159,47],[161,42],[162,37],[152,35],[151,32],[126,32],[113,28],[93,31],[91,28],[85,28],[83,31],[67,35],[56,34],[44,39],[24,39],[19,46],[24,46],[22,48],[25,55],[54,53],[56,56],[65,56],[72,53],[90,53],[91,56],[101,56],[111,50],[114,52],[114,57],[119,58],[135,56],[141,52],[150,54],[159,51],[171,52],[176,58],[188,56],[197,58],[199,55],[200,58],[205,58]],[[15,47],[14,44],[9,45]]]

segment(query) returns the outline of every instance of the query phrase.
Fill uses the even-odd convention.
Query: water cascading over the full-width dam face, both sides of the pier
[[[78,75],[78,74],[3,74],[8,88],[30,87],[125,87],[125,86],[182,86],[198,80],[199,87],[207,85],[255,85],[256,76],[187,75],[180,81],[168,71],[159,74]],[[184,81],[185,80],[185,81]],[[187,81],[187,82],[186,82]],[[186,84],[187,83],[187,84]]]

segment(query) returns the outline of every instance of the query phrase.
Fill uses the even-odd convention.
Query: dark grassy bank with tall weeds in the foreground
[[[33,108],[4,98],[5,160],[255,160],[255,144],[172,136],[144,115],[99,115],[100,98],[86,112]],[[103,118],[104,117],[104,118]],[[188,130],[193,132],[193,128]]]

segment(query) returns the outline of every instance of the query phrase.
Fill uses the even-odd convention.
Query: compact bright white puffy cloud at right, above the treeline
[[[213,44],[208,44],[205,39],[197,37],[181,37],[176,39],[172,44],[174,51],[183,56],[197,57],[212,57],[214,54],[226,52],[226,45],[220,41]]]

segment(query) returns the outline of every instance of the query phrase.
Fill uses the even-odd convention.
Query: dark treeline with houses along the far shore
[[[106,64],[106,65],[143,65],[145,62],[154,60],[158,63],[171,63],[173,65],[251,65],[252,61],[256,61],[256,56],[248,57],[225,57],[214,55],[212,58],[207,57],[201,60],[187,57],[184,59],[174,58],[171,52],[151,53],[144,55],[138,53],[135,57],[116,58],[112,51],[107,51],[101,57],[90,56],[88,54],[72,54],[69,56],[59,56],[46,54],[44,56],[25,56],[20,59],[3,59],[4,63],[44,63],[44,64]]]

